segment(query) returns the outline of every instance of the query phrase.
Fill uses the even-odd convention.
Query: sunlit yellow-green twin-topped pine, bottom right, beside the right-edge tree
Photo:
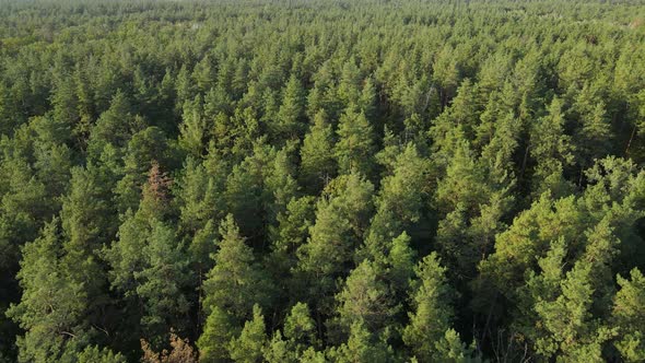
[[[603,343],[612,335],[594,313],[605,309],[613,294],[610,264],[618,239],[609,219],[602,219],[585,234],[585,249],[570,271],[563,266],[566,254],[575,246],[561,238],[540,260],[542,273],[529,272],[527,285],[518,294],[527,309],[524,319],[529,321],[524,331],[536,352],[547,359],[601,359]]]

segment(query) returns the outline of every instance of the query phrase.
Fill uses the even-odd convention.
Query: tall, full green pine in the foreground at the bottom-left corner
[[[87,296],[83,283],[61,268],[59,223],[51,221],[40,237],[25,245],[17,273],[23,296],[7,312],[25,330],[16,342],[23,362],[56,362],[86,339]]]

